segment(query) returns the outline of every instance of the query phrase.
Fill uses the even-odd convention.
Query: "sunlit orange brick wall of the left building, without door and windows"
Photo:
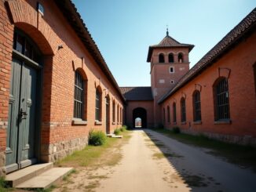
[[[106,77],[93,56],[52,1],[0,2],[0,175],[5,172],[9,84],[13,56],[13,34],[24,31],[43,55],[40,161],[57,161],[85,147],[90,130],[106,131],[105,96],[110,99],[110,131],[123,125],[123,97]],[[62,45],[62,49],[58,49]],[[73,121],[75,71],[87,80],[85,121]],[[95,122],[96,89],[102,92],[101,122]],[[112,103],[115,101],[115,120]],[[117,108],[119,107],[119,108]],[[117,112],[119,110],[119,113]],[[119,114],[119,118],[117,115]],[[119,121],[117,121],[119,119]],[[112,121],[114,120],[114,121]]]

